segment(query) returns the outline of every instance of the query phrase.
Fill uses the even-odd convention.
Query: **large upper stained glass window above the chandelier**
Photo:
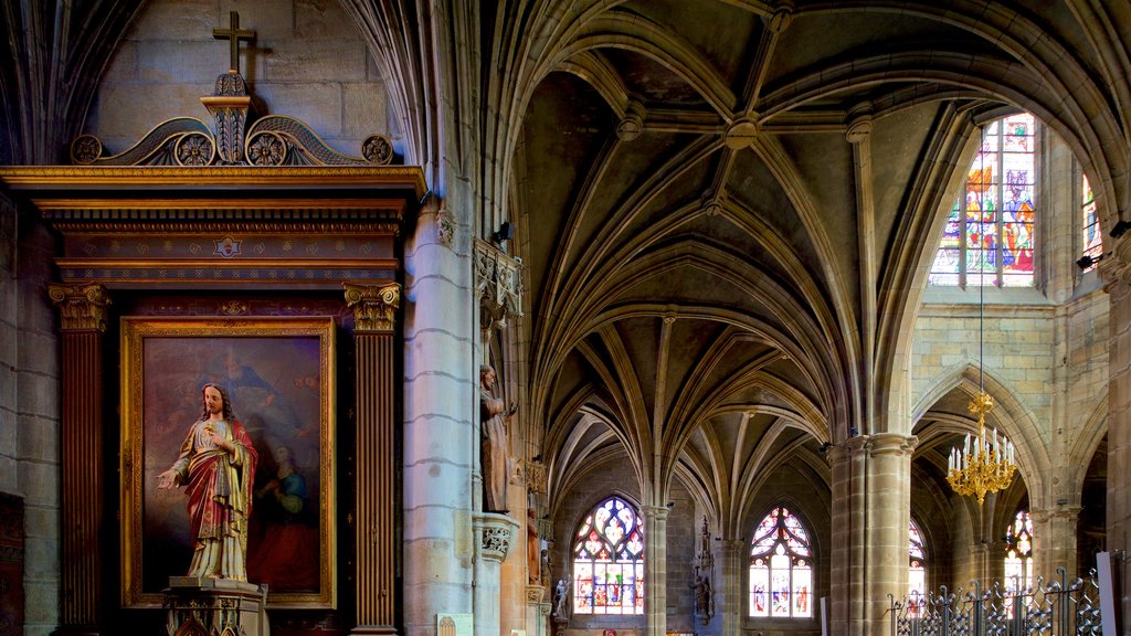
[[[1036,120],[985,127],[966,191],[955,203],[931,267],[934,285],[1033,285]]]

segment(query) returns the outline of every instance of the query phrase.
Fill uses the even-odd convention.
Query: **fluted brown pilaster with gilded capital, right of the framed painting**
[[[345,283],[354,310],[356,492],[354,634],[396,633],[396,474],[394,329],[400,285]]]

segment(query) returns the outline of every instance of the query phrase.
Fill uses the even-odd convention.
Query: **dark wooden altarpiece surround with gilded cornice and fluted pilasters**
[[[423,173],[361,158],[319,164],[303,153],[303,139],[286,131],[267,140],[277,153],[307,157],[304,164],[217,165],[211,148],[223,143],[219,135],[199,127],[165,134],[137,156],[172,165],[95,160],[0,169],[9,195],[61,237],[58,283],[44,290],[60,311],[62,350],[59,633],[162,625],[154,609],[159,596],[139,583],[136,567],[140,543],[150,538],[128,526],[140,527],[130,519],[140,514],[139,491],[152,489],[133,476],[141,471],[136,463],[169,457],[149,459],[143,429],[131,428],[140,421],[137,396],[149,394],[126,386],[144,379],[123,352],[145,342],[146,326],[159,330],[166,321],[189,325],[173,332],[187,337],[230,337],[251,325],[254,335],[279,338],[280,349],[291,332],[279,325],[297,321],[300,335],[302,325],[319,325],[322,354],[331,343],[326,377],[314,387],[301,386],[297,376],[294,386],[291,378],[276,381],[287,385],[279,392],[320,392],[311,403],[322,410],[322,426],[312,430],[323,447],[319,470],[333,464],[320,479],[328,553],[320,555],[313,590],[268,594],[273,631],[329,625],[396,633],[400,232],[425,194]],[[207,146],[209,161],[180,161],[195,156],[184,154],[189,146]],[[169,567],[167,575],[184,574],[182,565]]]

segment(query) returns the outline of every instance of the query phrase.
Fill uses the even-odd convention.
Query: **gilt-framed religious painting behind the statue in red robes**
[[[185,488],[161,489],[224,388],[253,448],[248,582],[269,608],[335,607],[333,318],[122,319],[122,603],[161,607],[192,560]],[[241,478],[242,479],[242,478]]]

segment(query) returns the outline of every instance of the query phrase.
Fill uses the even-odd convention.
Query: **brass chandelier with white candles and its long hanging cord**
[[[982,135],[982,145],[978,147],[978,154],[982,157],[985,156],[984,134]],[[982,249],[984,250],[985,238],[983,237],[983,229],[985,226],[985,220],[982,216],[982,197],[990,183],[993,182],[993,179],[986,179],[984,163],[981,170],[977,171],[977,174],[978,183],[976,184],[976,188],[978,197],[978,235],[979,240],[983,242]],[[969,180],[967,180],[967,188],[969,188]],[[998,259],[995,258],[994,263]],[[999,436],[996,428],[993,429],[992,435],[986,435],[986,413],[993,409],[993,397],[985,392],[982,369],[982,324],[985,315],[983,290],[985,289],[985,285],[981,283],[984,272],[985,264],[979,263],[978,393],[967,406],[970,415],[975,415],[978,420],[978,436],[977,438],[972,438],[969,433],[966,433],[966,442],[961,448],[951,448],[950,457],[947,461],[947,481],[950,483],[950,487],[955,490],[955,492],[964,497],[976,496],[978,498],[979,506],[983,501],[985,501],[987,492],[998,492],[999,490],[1009,487],[1010,482],[1013,481],[1013,473],[1017,472],[1017,465],[1013,463],[1013,442],[1009,441],[1004,435]]]

